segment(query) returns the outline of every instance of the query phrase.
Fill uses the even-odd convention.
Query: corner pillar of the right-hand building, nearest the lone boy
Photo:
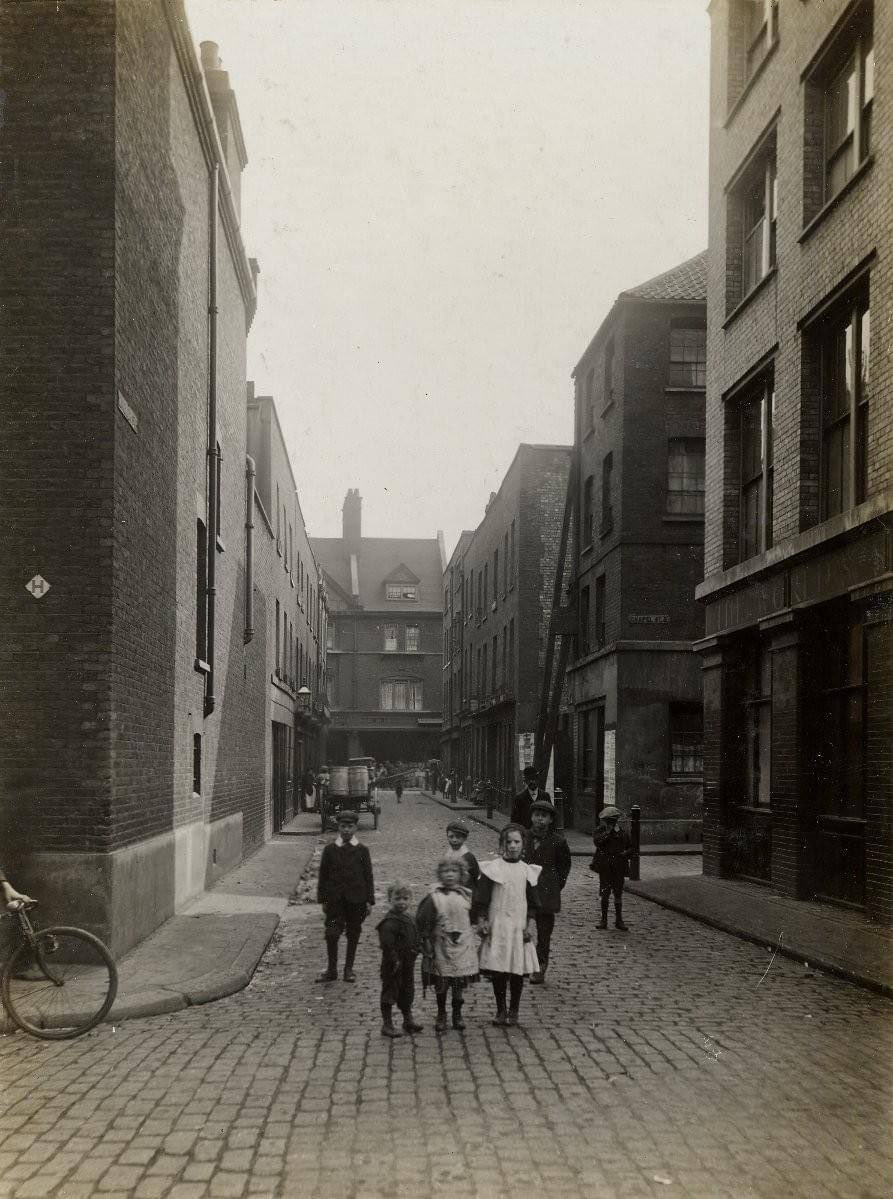
[[[743,671],[734,641],[711,637],[695,649],[704,674],[704,873],[720,876],[728,813],[741,793]]]

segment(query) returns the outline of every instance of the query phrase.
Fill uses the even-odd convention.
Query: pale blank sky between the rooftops
[[[260,263],[248,378],[310,536],[482,520],[573,440],[617,293],[706,246],[705,0],[186,0],[219,44]]]

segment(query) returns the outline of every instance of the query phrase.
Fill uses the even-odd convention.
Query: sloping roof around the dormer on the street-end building
[[[316,561],[340,590],[351,595],[350,555],[340,537],[312,537]],[[398,570],[404,567],[405,570]],[[385,579],[417,576],[418,602],[385,600]],[[387,611],[440,611],[444,607],[436,537],[363,537],[357,555],[360,607]]]

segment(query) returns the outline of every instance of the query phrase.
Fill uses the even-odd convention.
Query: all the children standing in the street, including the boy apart
[[[615,809],[616,811],[616,809]],[[611,826],[614,825],[610,821]],[[322,850],[318,902],[325,916],[328,960],[318,982],[338,977],[338,941],[346,935],[344,981],[354,982],[354,957],[362,923],[375,902],[369,850],[357,837],[357,814],[338,815],[338,836]],[[626,833],[607,839],[602,860],[611,866],[604,880],[609,891],[616,885],[616,851],[626,855]],[[446,830],[447,849],[438,862],[436,881],[411,914],[412,892],[405,882],[387,887],[388,911],[379,921],[381,947],[381,1034],[402,1037],[422,1031],[412,1014],[416,959],[422,958],[422,984],[432,987],[438,1004],[434,1031],[447,1031],[447,999],[452,1026],[461,1031],[465,989],[481,975],[489,978],[496,1002],[493,1024],[512,1028],[525,978],[542,984],[549,965],[555,916],[561,910],[561,892],[571,873],[571,850],[555,830],[555,809],[547,800],[532,802],[530,827],[508,824],[500,832],[499,857],[478,863],[467,848],[469,829],[451,820]],[[628,842],[628,837],[627,837]],[[598,846],[598,839],[596,840]],[[598,857],[598,849],[597,849]],[[620,878],[622,891],[622,872]],[[621,920],[620,892],[617,927]],[[607,924],[608,899],[602,900]],[[393,1008],[400,1012],[397,1028]]]

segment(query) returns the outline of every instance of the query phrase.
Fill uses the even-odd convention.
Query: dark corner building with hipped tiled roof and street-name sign
[[[701,815],[706,254],[621,293],[573,372],[579,471],[575,823],[615,799],[642,840]]]

